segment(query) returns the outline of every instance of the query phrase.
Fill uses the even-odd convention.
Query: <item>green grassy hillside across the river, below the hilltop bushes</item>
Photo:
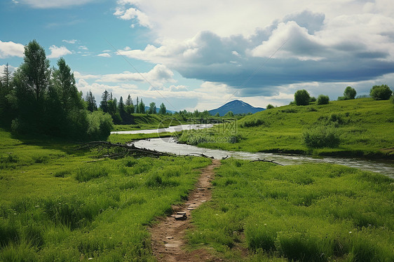
[[[308,148],[302,134],[315,127],[336,130],[339,146]],[[369,98],[280,106],[245,116],[236,127],[183,132],[180,142],[231,151],[393,158],[394,106]]]

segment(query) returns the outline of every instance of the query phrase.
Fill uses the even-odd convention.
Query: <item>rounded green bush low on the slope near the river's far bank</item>
[[[337,130],[334,127],[320,125],[302,134],[304,143],[310,148],[337,147],[341,142]]]

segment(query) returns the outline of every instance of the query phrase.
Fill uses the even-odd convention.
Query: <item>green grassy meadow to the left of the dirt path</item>
[[[154,261],[147,226],[210,163],[109,160],[68,142],[0,137],[0,261]]]

